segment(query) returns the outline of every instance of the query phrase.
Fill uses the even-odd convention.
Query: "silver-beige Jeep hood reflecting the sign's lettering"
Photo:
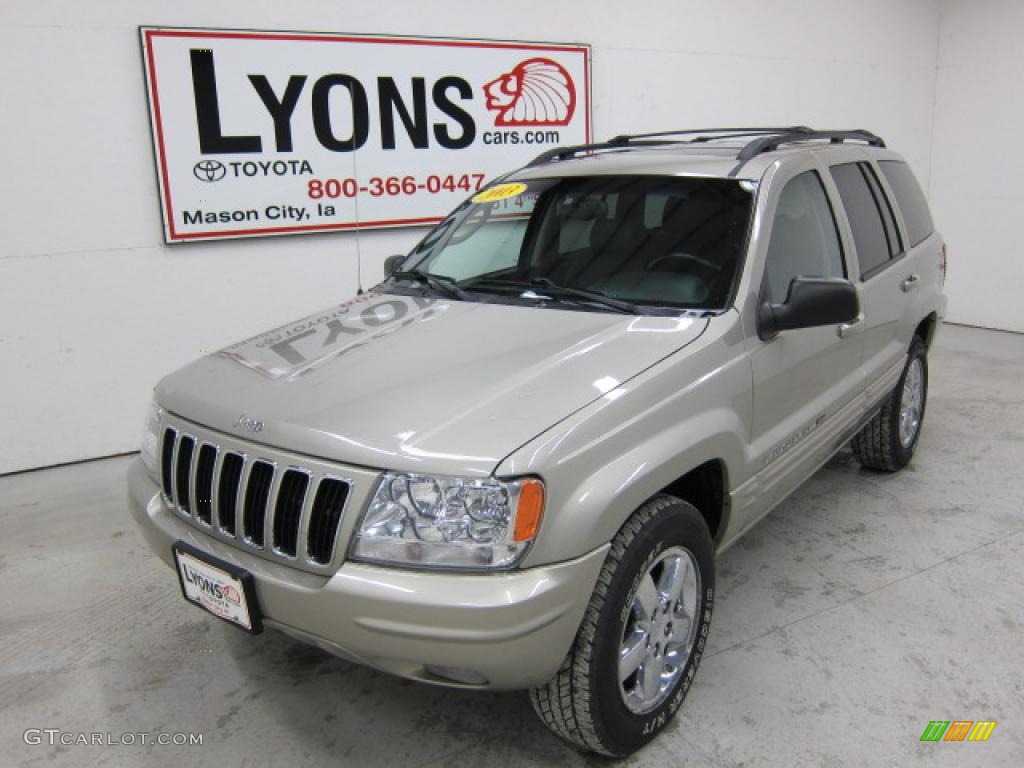
[[[157,399],[288,451],[486,475],[707,326],[369,293],[196,360],[161,381]]]

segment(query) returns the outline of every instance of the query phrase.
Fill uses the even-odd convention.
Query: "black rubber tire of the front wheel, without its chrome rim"
[[[672,666],[679,672],[650,702],[653,709],[635,714],[627,707],[627,693],[621,687],[625,683],[620,680],[620,648],[628,629],[638,631],[631,606],[638,604],[634,597],[640,599],[641,582],[645,578],[658,581],[657,568],[668,567],[662,563],[672,562],[673,556],[678,561],[685,558],[688,567],[695,564],[699,577],[691,593],[695,594],[692,623],[687,622],[684,631],[690,638],[690,649],[688,655],[681,651],[678,664]],[[612,540],[572,649],[555,677],[529,693],[534,710],[551,730],[583,750],[623,757],[640,749],[672,721],[693,682],[711,627],[714,594],[714,549],[700,513],[679,499],[654,497]],[[664,596],[658,593],[659,600]],[[674,621],[683,621],[677,612],[681,602],[677,601],[671,611],[658,602],[660,621],[669,623],[666,635]],[[655,634],[651,632],[647,647]],[[668,647],[666,644],[665,652]],[[639,678],[636,681],[639,683]]]

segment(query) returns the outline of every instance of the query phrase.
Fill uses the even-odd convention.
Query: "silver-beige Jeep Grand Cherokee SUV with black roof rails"
[[[132,514],[185,599],[627,755],[715,557],[852,439],[913,455],[945,247],[866,131],[621,136],[473,195],[373,291],[163,379]]]

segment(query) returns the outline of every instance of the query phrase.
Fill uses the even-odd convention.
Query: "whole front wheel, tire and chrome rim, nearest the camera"
[[[672,497],[651,499],[612,541],[572,649],[530,691],[534,710],[584,750],[621,757],[643,746],[690,688],[714,594],[700,513]]]

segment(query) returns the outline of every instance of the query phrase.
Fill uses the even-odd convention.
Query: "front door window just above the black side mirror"
[[[846,276],[836,217],[814,171],[791,179],[779,196],[765,264],[766,298],[785,301],[797,276]]]

